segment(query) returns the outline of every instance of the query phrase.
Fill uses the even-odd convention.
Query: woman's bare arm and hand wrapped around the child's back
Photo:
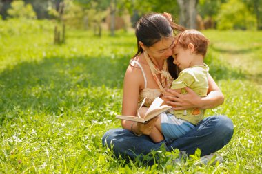
[[[169,100],[167,101],[167,104],[172,105],[175,110],[193,108],[212,109],[224,102],[224,96],[210,74],[208,74],[208,96],[205,98],[199,97],[189,87],[185,87],[185,89],[188,91],[188,94],[185,95],[179,94],[172,89],[168,89],[168,92],[173,96],[164,96]]]

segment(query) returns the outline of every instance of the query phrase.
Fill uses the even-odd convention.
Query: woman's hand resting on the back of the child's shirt
[[[174,107],[174,110],[201,108],[202,98],[189,87],[185,87],[185,90],[188,91],[188,94],[180,94],[177,91],[168,89],[168,95],[165,94],[164,96],[164,98],[167,98],[166,103]]]

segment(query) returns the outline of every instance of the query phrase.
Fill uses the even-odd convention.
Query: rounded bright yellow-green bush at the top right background
[[[256,29],[254,14],[248,10],[243,2],[238,0],[229,0],[227,3],[223,3],[216,21],[219,30]]]

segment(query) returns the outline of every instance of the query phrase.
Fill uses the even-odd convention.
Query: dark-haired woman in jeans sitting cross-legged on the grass
[[[137,108],[143,100],[150,106],[152,100],[161,96],[174,109],[211,109],[223,103],[223,94],[208,74],[208,96],[200,98],[194,91],[186,88],[188,94],[182,95],[170,90],[178,70],[173,64],[173,31],[183,28],[175,23],[168,14],[152,13],[141,17],[137,23],[137,54],[130,61],[123,82],[122,115],[137,116]],[[169,73],[168,73],[169,72]],[[170,76],[171,74],[171,76]],[[168,91],[168,93],[166,93]],[[165,95],[166,94],[166,95]],[[161,119],[161,118],[159,118]],[[209,155],[228,144],[233,134],[232,121],[226,116],[212,116],[203,119],[194,129],[177,140],[154,143],[148,137],[157,118],[147,124],[122,120],[123,129],[111,129],[103,135],[103,146],[108,146],[115,155],[128,159],[147,155],[152,150],[165,146],[167,151],[179,149],[188,155],[197,148],[201,155]],[[149,161],[152,164],[152,160]]]

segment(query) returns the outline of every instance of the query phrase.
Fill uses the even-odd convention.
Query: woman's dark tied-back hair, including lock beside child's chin
[[[163,38],[169,37],[175,30],[183,31],[180,25],[170,21],[163,14],[150,13],[141,17],[137,22],[135,34],[137,36],[137,53],[134,57],[143,53],[143,49],[139,44],[141,41],[146,47],[150,47]],[[173,58],[168,58],[168,71],[173,78],[177,77],[177,66],[173,63]]]

